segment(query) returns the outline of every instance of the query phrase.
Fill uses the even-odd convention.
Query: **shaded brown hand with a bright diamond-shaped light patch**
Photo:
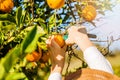
[[[65,51],[66,46],[61,48],[54,40],[54,35],[51,36],[47,41],[48,50],[50,53],[50,58],[52,62],[52,72],[62,72],[64,61],[65,61]]]

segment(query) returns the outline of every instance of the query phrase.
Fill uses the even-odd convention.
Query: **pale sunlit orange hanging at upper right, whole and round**
[[[97,15],[96,9],[95,7],[93,7],[92,5],[87,5],[83,10],[82,10],[82,17],[86,20],[86,21],[92,21],[95,19]]]

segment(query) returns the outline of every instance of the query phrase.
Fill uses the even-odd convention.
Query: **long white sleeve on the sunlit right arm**
[[[84,51],[84,59],[91,69],[103,70],[113,74],[109,61],[96,47],[89,47]]]

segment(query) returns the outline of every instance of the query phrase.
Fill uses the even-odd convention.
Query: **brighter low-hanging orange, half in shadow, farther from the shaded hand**
[[[42,53],[38,53],[36,51],[33,51],[31,54],[26,55],[26,59],[30,62],[36,62],[36,61],[39,61],[41,56],[42,56]]]

